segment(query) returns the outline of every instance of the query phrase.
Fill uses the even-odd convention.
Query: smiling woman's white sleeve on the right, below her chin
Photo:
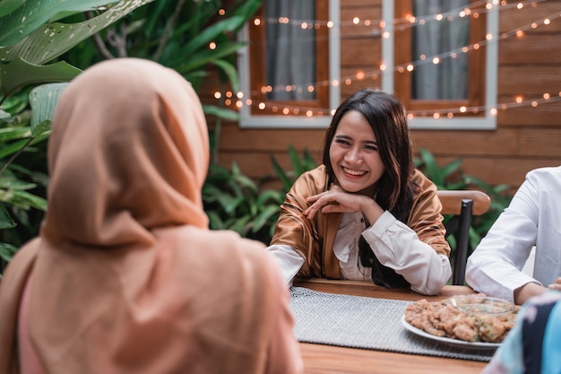
[[[450,259],[437,254],[392,213],[384,212],[362,235],[380,263],[401,274],[413,291],[436,295],[452,275]]]

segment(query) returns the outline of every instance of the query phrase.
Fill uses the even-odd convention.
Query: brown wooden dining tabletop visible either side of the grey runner
[[[294,285],[326,293],[346,294],[370,298],[436,301],[453,295],[475,293],[470,287],[446,285],[436,296],[425,296],[414,291],[390,290],[371,282],[296,279]],[[468,361],[419,354],[382,352],[348,348],[328,344],[300,343],[305,374],[475,374],[487,362]]]

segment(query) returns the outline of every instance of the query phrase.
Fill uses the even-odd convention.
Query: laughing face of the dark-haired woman
[[[345,191],[374,196],[374,185],[385,168],[374,131],[362,113],[350,110],[341,117],[329,158],[335,178]]]

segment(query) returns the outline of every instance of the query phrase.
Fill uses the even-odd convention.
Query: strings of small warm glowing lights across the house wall
[[[531,7],[536,7],[538,3],[541,3],[543,1],[547,1],[547,0],[530,0],[530,1],[521,1],[518,3],[507,3],[505,0],[502,0],[500,2],[500,7],[503,9],[508,9],[508,8],[513,8],[516,7],[516,9],[518,10],[522,10],[524,8],[525,5],[530,4]],[[479,8],[480,5],[485,4],[485,8]],[[457,10],[453,10],[450,11],[448,13],[438,13],[438,14],[434,14],[434,15],[429,15],[429,16],[425,16],[425,17],[414,17],[412,15],[406,16],[406,18],[400,18],[400,19],[395,19],[395,24],[397,25],[396,27],[394,27],[394,31],[400,31],[400,30],[406,30],[408,28],[412,28],[415,27],[417,25],[424,25],[427,24],[427,22],[443,22],[444,20],[451,22],[453,21],[455,18],[460,17],[460,18],[466,18],[466,17],[473,17],[473,18],[478,18],[480,13],[486,13],[486,12],[490,12],[493,10],[493,7],[498,6],[498,1],[494,1],[493,4],[488,3],[486,0],[482,0],[480,2],[476,2],[473,4],[470,4],[471,8],[462,8],[462,9],[457,9]],[[477,8],[477,9],[476,9]],[[223,11],[223,10],[220,10]],[[220,13],[219,11],[219,13]],[[224,13],[220,13],[220,15],[223,15]],[[510,30],[510,31],[506,31],[503,32],[500,35],[500,38],[498,39],[507,39],[510,37],[515,36],[516,38],[522,38],[524,36],[524,31],[525,30],[530,30],[530,29],[537,29],[539,27],[539,25],[545,25],[548,26],[549,24],[551,24],[551,20],[558,18],[561,15],[561,12],[555,13],[555,14],[551,14],[548,17],[542,18],[539,21],[536,22],[531,22],[528,25],[519,27],[517,29],[514,30]],[[290,20],[289,17],[279,17],[279,18],[269,18],[269,19],[260,19],[260,18],[255,18],[254,20],[254,25],[255,26],[262,26],[263,22],[266,22],[268,24],[273,24],[273,23],[281,23],[281,24],[292,24],[294,26],[298,26],[302,29],[318,29],[320,27],[327,27],[327,28],[332,28],[334,27],[335,23],[333,21],[327,21],[327,22],[317,22],[317,21],[310,21],[310,20]],[[350,22],[339,22],[340,27],[341,26],[360,26],[360,24],[363,23],[366,26],[369,25],[379,25],[379,29],[374,29],[374,30],[370,30],[368,33],[368,36],[373,36],[373,35],[381,35],[383,38],[390,38],[391,34],[389,31],[384,30],[385,27],[385,22],[384,20],[364,20],[361,21],[359,19],[359,17],[353,17],[353,19]],[[355,34],[353,34],[355,35]],[[359,36],[361,34],[356,34],[355,36]],[[393,66],[393,69],[395,72],[398,73],[404,73],[405,71],[407,72],[412,72],[413,70],[415,70],[415,68],[419,65],[422,64],[426,64],[426,63],[432,63],[434,65],[440,64],[442,62],[442,60],[444,58],[456,58],[458,57],[460,54],[466,54],[469,53],[470,50],[477,50],[479,48],[481,48],[482,46],[488,45],[489,43],[492,42],[497,42],[497,39],[494,39],[493,36],[491,34],[487,34],[486,35],[486,39],[485,40],[480,40],[479,42],[473,43],[471,45],[468,46],[463,46],[462,48],[457,48],[454,49],[452,51],[448,51],[445,52],[443,54],[439,54],[433,57],[427,57],[424,55],[419,56],[419,60],[417,61],[411,61],[408,62],[406,64],[402,64],[402,65],[395,65]],[[212,48],[212,44],[210,48]],[[216,45],[214,44],[213,48],[216,48]],[[286,85],[286,86],[277,86],[277,87],[272,87],[272,86],[264,86],[261,88],[261,92],[263,94],[265,93],[269,93],[272,91],[308,91],[308,92],[313,92],[315,91],[316,87],[320,87],[320,86],[327,86],[327,85],[332,85],[333,87],[339,86],[342,83],[344,83],[345,85],[350,85],[353,83],[353,80],[364,80],[366,78],[366,76],[370,76],[373,80],[376,80],[379,76],[379,74],[381,74],[382,72],[384,72],[384,70],[387,69],[387,66],[384,64],[381,64],[379,66],[379,69],[376,69],[375,71],[372,72],[363,72],[363,71],[359,71],[356,74],[353,74],[351,76],[347,76],[347,77],[341,77],[340,79],[335,79],[332,80],[331,82],[329,81],[325,81],[325,82],[318,82],[318,83],[306,83],[305,85],[298,86],[295,84],[292,85]],[[256,92],[252,92],[252,93],[256,93]],[[241,96],[239,96],[241,94]],[[233,93],[231,91],[227,91],[225,93],[225,96],[227,98],[231,98],[233,95]],[[250,95],[251,96],[251,95]],[[220,99],[221,95],[220,92],[215,92],[214,93],[214,97],[215,99]],[[243,98],[243,93],[242,92],[238,92],[237,93],[237,98],[241,99]],[[514,101],[513,102],[507,102],[507,103],[502,103],[500,104],[500,109],[502,110],[506,110],[509,108],[513,108],[513,107],[522,107],[522,106],[531,106],[533,108],[536,108],[539,106],[539,104],[544,103],[544,102],[553,102],[553,101],[558,101],[561,100],[561,92],[559,92],[559,96],[557,97],[551,97],[551,95],[548,92],[545,92],[542,94],[542,98],[543,99],[539,99],[539,100],[524,100],[522,96],[516,96],[514,97]],[[225,104],[227,105],[231,105],[232,102],[231,100],[226,100]],[[272,104],[272,103],[271,103]],[[241,108],[244,105],[244,102],[242,100],[237,100],[235,102],[235,105],[237,106],[237,108]],[[256,105],[258,109],[260,110],[264,110],[268,107],[268,105],[266,104],[266,101],[259,101],[259,102],[255,102],[252,100],[246,100],[245,102],[246,106],[253,106]],[[272,104],[273,105],[273,104]],[[279,108],[277,108],[276,106],[272,106],[269,107],[272,109],[273,112],[278,112]],[[465,114],[468,112],[471,113],[479,113],[479,111],[485,111],[487,110],[486,107],[471,107],[471,108],[466,108],[466,107],[461,107],[461,108],[451,108],[451,109],[437,109],[437,110],[433,110],[429,113],[427,113],[427,110],[412,110],[412,111],[408,111],[408,118],[411,119],[413,117],[425,117],[425,116],[432,116],[435,119],[439,119],[441,117],[448,117],[448,118],[452,118],[454,117],[455,114]],[[317,109],[317,108],[303,108],[301,105],[298,106],[290,106],[290,105],[283,105],[283,108],[280,109],[281,113],[284,115],[289,115],[290,113],[292,114],[298,114],[300,111],[302,113],[304,113],[306,115],[306,117],[314,117],[314,116],[324,116],[324,115],[332,115],[335,111],[335,109]],[[490,108],[489,109],[489,113],[492,116],[496,116],[497,114],[497,109],[496,108]]]

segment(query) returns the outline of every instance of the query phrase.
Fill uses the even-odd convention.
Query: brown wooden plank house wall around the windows
[[[362,19],[381,19],[381,0],[345,0],[341,2],[341,21],[360,14]],[[512,3],[512,2],[510,2]],[[561,0],[526,4],[522,10],[503,9],[499,15],[499,35],[526,28],[531,22],[561,10]],[[513,103],[516,96],[539,100],[548,92],[561,95],[561,17],[548,26],[524,31],[521,38],[499,41],[498,97],[501,103]],[[356,28],[341,30],[341,76],[357,71],[373,71],[381,60],[379,37],[356,36]],[[368,53],[365,53],[368,51]],[[203,102],[212,102],[212,80],[201,91]],[[379,77],[367,76],[341,85],[341,97],[362,86],[379,87]],[[209,118],[213,126],[214,118]],[[527,171],[561,164],[561,101],[519,108],[499,109],[496,130],[411,130],[415,152],[427,148],[439,164],[462,159],[462,171],[491,185],[506,184],[514,191]],[[324,128],[256,129],[240,128],[237,123],[222,122],[220,164],[237,162],[241,170],[255,180],[274,175],[273,155],[285,170],[290,170],[289,144],[298,152],[309,150],[321,161]],[[274,182],[273,182],[274,184]]]

